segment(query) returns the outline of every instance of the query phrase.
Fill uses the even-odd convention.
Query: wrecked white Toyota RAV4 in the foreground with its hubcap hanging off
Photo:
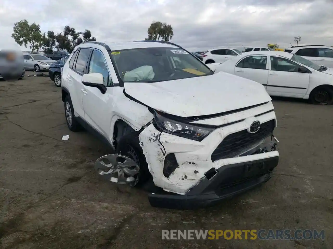
[[[95,169],[111,182],[149,186],[154,207],[191,209],[270,179],[279,153],[265,88],[214,73],[159,41],[83,42],[62,71],[67,125],[116,154]]]

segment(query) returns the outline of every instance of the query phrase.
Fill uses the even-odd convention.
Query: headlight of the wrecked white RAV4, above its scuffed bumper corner
[[[202,139],[204,139],[215,129],[212,127],[184,124],[178,121],[170,120],[161,116],[156,111],[154,117],[157,127],[162,131],[196,141],[202,141]]]

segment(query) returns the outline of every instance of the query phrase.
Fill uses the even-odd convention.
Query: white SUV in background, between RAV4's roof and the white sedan
[[[203,62],[205,64],[208,64],[215,62],[224,62],[241,53],[242,51],[235,48],[214,48],[208,50],[208,52],[204,53],[202,56]]]

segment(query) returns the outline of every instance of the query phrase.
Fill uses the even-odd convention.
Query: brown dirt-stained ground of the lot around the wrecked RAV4
[[[273,178],[215,207],[168,210],[101,180],[94,161],[110,151],[70,132],[61,88],[28,74],[0,81],[0,248],[333,248],[333,106],[274,99]],[[162,229],[324,229],[325,239],[162,240]]]

